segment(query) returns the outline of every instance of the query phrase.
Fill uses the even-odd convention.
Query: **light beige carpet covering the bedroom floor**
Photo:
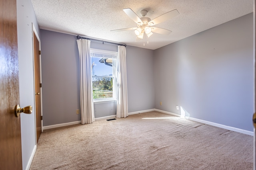
[[[253,137],[159,112],[45,130],[31,170],[250,170]]]

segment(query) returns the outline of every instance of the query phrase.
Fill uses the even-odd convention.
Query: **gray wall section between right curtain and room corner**
[[[154,109],[153,50],[126,47],[128,112]]]

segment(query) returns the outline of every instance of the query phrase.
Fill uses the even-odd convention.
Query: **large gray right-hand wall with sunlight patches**
[[[253,14],[154,51],[155,108],[253,131]],[[162,106],[160,106],[162,102]]]

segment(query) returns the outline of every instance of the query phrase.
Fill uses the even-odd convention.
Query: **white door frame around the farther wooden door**
[[[36,93],[36,79],[35,79],[35,59],[34,59],[34,33],[36,35],[36,38],[39,42],[39,50],[41,50],[41,40],[38,36],[38,33],[36,31],[36,28],[34,24],[32,23],[32,54],[33,54],[33,79],[34,79],[34,94]],[[41,65],[41,55],[39,55],[39,62],[40,62],[40,82],[42,83],[42,65]],[[42,88],[40,88],[40,98],[41,98],[41,116],[43,115],[43,109],[42,109]],[[36,136],[36,97],[34,97],[34,117],[35,117],[35,142],[37,145],[37,136]],[[43,120],[41,120],[41,128],[43,131]]]

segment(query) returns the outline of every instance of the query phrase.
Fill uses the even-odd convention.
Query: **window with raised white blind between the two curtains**
[[[90,49],[94,101],[116,99],[115,51]]]

